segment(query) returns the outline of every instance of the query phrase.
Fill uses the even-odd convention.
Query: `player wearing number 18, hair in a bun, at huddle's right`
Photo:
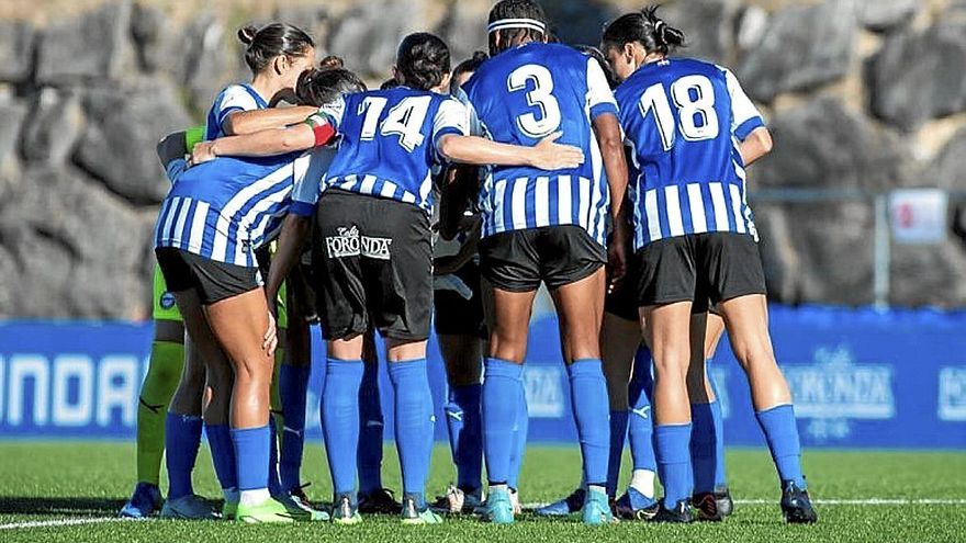
[[[785,518],[815,522],[791,397],[768,337],[757,231],[744,193],[744,168],[771,150],[771,137],[730,71],[667,57],[684,35],[655,12],[624,15],[603,37],[624,80],[617,100],[640,172],[633,181],[638,304],[653,351],[655,448],[665,491],[654,520],[693,518],[686,375],[693,306],[707,297],[719,307],[748,375]]]

